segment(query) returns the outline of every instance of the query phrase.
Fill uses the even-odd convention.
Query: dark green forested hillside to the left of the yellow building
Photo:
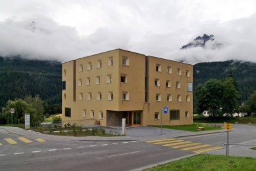
[[[8,100],[36,94],[45,111],[61,113],[61,62],[0,57],[0,111]]]

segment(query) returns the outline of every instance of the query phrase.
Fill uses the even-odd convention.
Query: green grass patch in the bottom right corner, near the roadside
[[[234,157],[225,155],[194,155],[192,157],[187,157],[180,159],[178,161],[168,162],[166,164],[159,164],[153,168],[147,168],[143,171],[187,171],[187,170],[197,170],[197,171],[222,171],[222,170],[255,170],[256,168],[256,158],[253,157]]]

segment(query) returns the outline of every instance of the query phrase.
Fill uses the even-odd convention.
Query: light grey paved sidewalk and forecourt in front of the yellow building
[[[109,128],[105,126],[93,126],[97,128],[104,128],[106,132],[109,130],[115,130],[122,134],[122,129],[120,128]],[[145,140],[155,140],[161,138],[178,138],[183,136],[193,136],[201,134],[214,134],[220,132],[226,132],[226,130],[215,130],[215,131],[201,131],[201,132],[190,132],[184,130],[170,130],[166,128],[156,128],[152,126],[136,126],[126,128],[126,136],[115,136],[115,137],[102,137],[102,136],[84,136],[84,137],[72,137],[72,136],[53,136],[49,134],[41,134],[39,132],[34,132],[32,130],[24,130],[18,127],[11,126],[0,126],[0,128],[7,130],[13,134],[18,134],[20,136],[28,136],[32,138],[45,138],[52,140],[77,140],[77,141],[102,141],[102,142],[114,142],[114,141],[145,141]]]

